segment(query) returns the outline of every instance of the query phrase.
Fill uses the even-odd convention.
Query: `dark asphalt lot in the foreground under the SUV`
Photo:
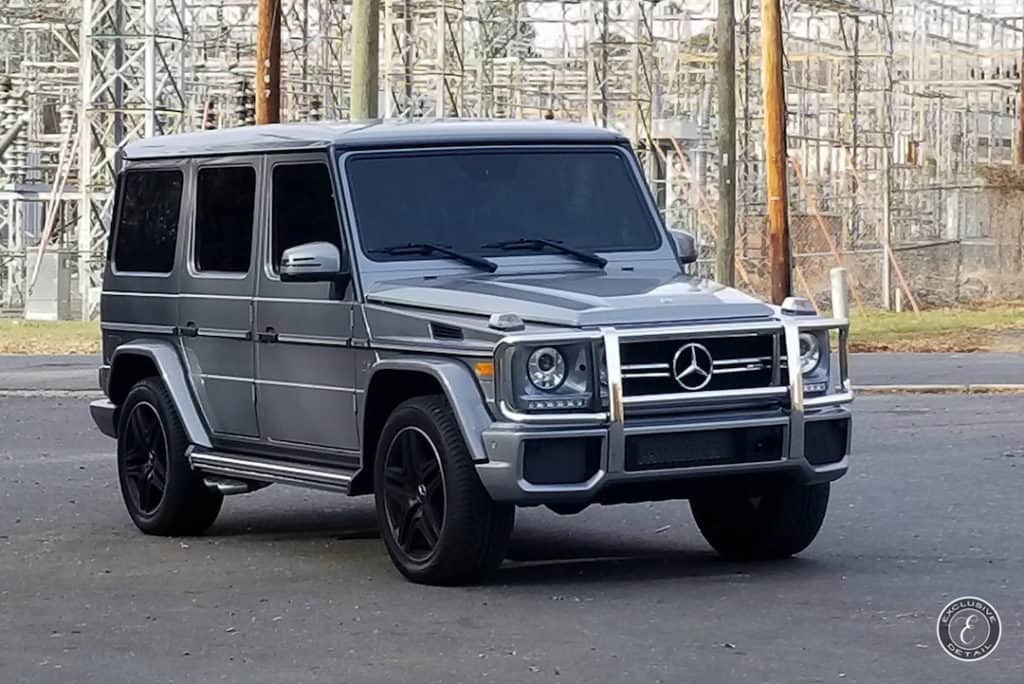
[[[367,499],[274,485],[147,538],[82,397],[0,396],[0,682],[950,682],[1024,672],[1024,396],[864,396],[817,541],[723,562],[685,502],[520,511],[492,584],[391,567]],[[986,659],[935,619],[989,600]]]

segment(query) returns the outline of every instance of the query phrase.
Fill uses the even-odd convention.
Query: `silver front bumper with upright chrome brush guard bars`
[[[609,411],[594,420],[580,420],[557,424],[530,423],[508,418],[494,423],[483,431],[482,439],[487,461],[476,464],[477,473],[487,493],[495,501],[518,505],[585,505],[594,502],[620,500],[642,501],[647,498],[686,498],[705,482],[722,478],[780,476],[804,483],[827,482],[842,477],[848,468],[852,416],[846,404],[853,400],[850,390],[849,361],[846,353],[845,320],[817,320],[810,325],[801,322],[784,325],[785,354],[788,368],[800,368],[799,335],[804,330],[840,330],[839,383],[828,394],[804,397],[803,378],[791,374],[787,386],[772,388],[781,393],[781,401],[773,408],[707,413],[689,411],[668,418],[630,418],[626,409],[630,399],[623,397],[622,374],[618,368],[618,340],[614,331],[603,331],[609,378]],[[710,393],[709,393],[710,394]],[[765,398],[765,397],[762,397]],[[698,397],[693,395],[690,408],[699,409]],[[835,421],[817,428],[841,427],[834,434],[843,435],[845,443],[833,444],[831,452],[839,458],[818,458],[819,443],[807,443],[809,426],[820,421]],[[678,435],[679,443],[696,436],[698,432],[729,432],[749,429],[766,429],[781,435],[781,446],[775,457],[765,460],[741,459],[722,463],[694,461],[697,465],[673,464],[671,467],[645,466],[638,468],[627,458],[631,438],[642,435]],[[811,428],[812,434],[820,429]],[[694,434],[684,434],[694,433]],[[599,444],[597,465],[586,470],[580,481],[557,484],[538,484],[537,478],[527,476],[526,448],[530,442],[564,439]],[[813,441],[813,439],[812,439]],[[555,442],[553,442],[555,443]],[[841,456],[840,456],[841,453]],[[808,459],[808,456],[811,459]],[[662,486],[655,495],[653,485]],[[624,490],[630,490],[626,495]],[[625,497],[625,498],[623,498]]]

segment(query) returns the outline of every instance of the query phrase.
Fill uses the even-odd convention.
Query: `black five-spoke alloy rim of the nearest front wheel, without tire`
[[[437,447],[415,426],[398,431],[384,461],[384,510],[410,560],[427,561],[444,527],[444,473]]]

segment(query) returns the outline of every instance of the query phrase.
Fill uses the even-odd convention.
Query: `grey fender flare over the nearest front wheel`
[[[374,377],[381,371],[421,373],[437,381],[455,413],[456,422],[474,463],[487,461],[483,431],[492,426],[494,419],[487,411],[486,400],[469,369],[457,360],[436,357],[388,358],[378,361],[370,371],[367,393],[362,398],[362,434],[366,435],[366,405],[370,398],[370,388]]]

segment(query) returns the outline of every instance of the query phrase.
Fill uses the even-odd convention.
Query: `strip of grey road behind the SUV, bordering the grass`
[[[1024,384],[1024,353],[852,354],[854,383],[868,385]],[[0,391],[96,389],[98,356],[0,354]]]

